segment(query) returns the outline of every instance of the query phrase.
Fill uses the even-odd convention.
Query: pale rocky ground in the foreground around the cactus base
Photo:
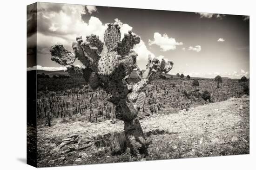
[[[140,120],[148,155],[123,151],[123,122],[76,121],[38,126],[38,166],[249,154],[249,97],[231,98]]]

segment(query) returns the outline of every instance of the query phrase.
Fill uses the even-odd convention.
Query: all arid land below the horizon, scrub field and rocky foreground
[[[133,73],[129,81],[137,82]],[[60,75],[68,76],[38,79],[39,167],[249,154],[249,80],[222,78],[217,88],[214,79],[162,74],[145,88],[138,113],[148,153],[131,157],[106,93]]]

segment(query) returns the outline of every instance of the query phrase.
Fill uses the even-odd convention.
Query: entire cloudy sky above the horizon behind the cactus
[[[42,2],[37,3],[36,11],[27,12],[27,67],[65,69],[51,61],[50,46],[63,44],[72,50],[76,37],[85,39],[90,34],[103,41],[107,23],[114,22],[121,26],[121,38],[129,30],[141,37],[134,47],[141,69],[150,54],[173,61],[169,74],[249,77],[249,16]],[[36,29],[33,23],[37,23]],[[31,43],[35,39],[37,64],[29,57],[35,51],[36,43]],[[105,52],[106,47],[102,55]],[[77,60],[74,65],[81,63]]]

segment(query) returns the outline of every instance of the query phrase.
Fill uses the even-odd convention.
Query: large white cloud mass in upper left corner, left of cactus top
[[[39,3],[38,11],[38,32],[45,36],[61,37],[70,45],[76,37],[85,38],[90,34],[96,34],[103,41],[103,34],[107,29],[106,24],[102,24],[100,19],[91,17],[88,23],[81,19],[81,14],[92,13],[96,10],[94,6],[62,4],[59,10],[51,10],[51,6],[47,3]],[[87,9],[88,11],[86,11]],[[40,42],[40,39],[39,41]]]

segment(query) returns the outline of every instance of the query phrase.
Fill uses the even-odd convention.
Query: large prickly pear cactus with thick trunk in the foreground
[[[92,89],[102,88],[108,94],[107,100],[115,105],[115,116],[124,121],[127,146],[132,155],[146,154],[146,139],[137,114],[144,107],[146,95],[142,91],[149,82],[168,73],[173,68],[172,62],[161,62],[148,56],[146,70],[137,68],[137,53],[132,50],[140,43],[140,37],[132,31],[121,39],[118,23],[108,24],[104,33],[104,42],[108,52],[100,56],[103,44],[99,36],[87,36],[85,42],[81,37],[72,44],[74,53],[61,44],[51,46],[51,59],[61,65],[70,65],[78,59],[84,66],[83,76]],[[137,68],[140,79],[135,84],[126,81],[133,69]]]

